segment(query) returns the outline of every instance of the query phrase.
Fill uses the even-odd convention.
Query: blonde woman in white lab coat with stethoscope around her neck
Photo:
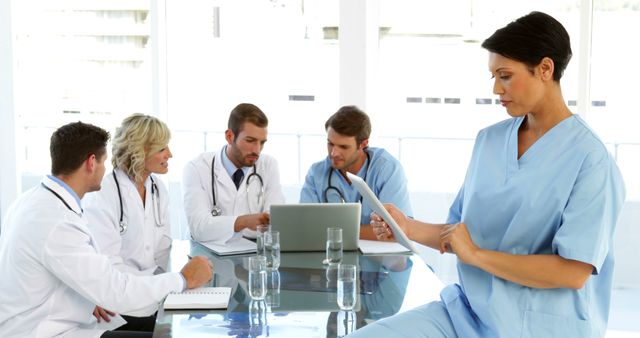
[[[169,169],[170,137],[166,124],[153,116],[125,118],[112,142],[113,171],[104,176],[100,191],[83,200],[100,250],[121,271],[148,276],[167,269],[169,194],[155,174]],[[150,316],[156,310],[149,307],[127,315]]]

